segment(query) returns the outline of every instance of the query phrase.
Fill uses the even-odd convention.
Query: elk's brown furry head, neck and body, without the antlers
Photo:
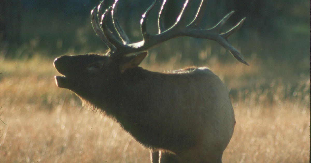
[[[154,163],[221,162],[235,124],[224,84],[204,67],[169,73],[144,70],[138,67],[143,58],[63,56],[54,61],[58,72],[66,75],[56,77],[57,84],[114,117],[152,149]],[[162,158],[157,157],[160,153]]]

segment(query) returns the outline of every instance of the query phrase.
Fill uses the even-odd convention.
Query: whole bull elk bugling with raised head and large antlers
[[[165,29],[166,0],[163,0],[157,22],[159,33],[151,35],[146,29],[146,19],[156,0],[140,21],[143,40],[131,43],[114,16],[118,2],[115,0],[113,6],[103,9],[102,1],[91,11],[92,26],[109,51],[104,55],[90,53],[56,58],[54,66],[64,75],[55,76],[57,86],[70,89],[117,121],[150,149],[153,163],[221,162],[235,125],[233,107],[222,81],[204,67],[158,73],[138,65],[146,57],[146,50],[180,36],[215,40],[248,65],[227,40],[245,18],[229,31],[220,33],[232,11],[213,28],[202,30],[199,24],[207,1],[201,1],[194,19],[187,25],[185,16],[190,5],[189,0],[185,0],[174,25]],[[113,26],[108,27],[109,23]],[[142,53],[126,56],[134,52]]]

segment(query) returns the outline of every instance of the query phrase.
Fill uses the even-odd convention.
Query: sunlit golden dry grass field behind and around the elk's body
[[[223,162],[309,162],[309,74],[285,69],[286,63],[247,61],[251,66],[234,58],[204,64],[228,85],[237,121]],[[142,66],[165,71],[191,65],[175,62]],[[0,162],[149,162],[149,151],[117,123],[55,85],[52,63],[44,57],[1,60]]]

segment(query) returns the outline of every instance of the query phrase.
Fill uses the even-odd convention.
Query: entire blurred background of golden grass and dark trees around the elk
[[[121,26],[132,42],[142,40],[139,22],[154,0],[119,1]],[[82,109],[53,79],[54,58],[107,50],[91,26],[99,2],[0,0],[0,162],[149,161],[148,150],[117,123]],[[189,22],[199,2],[192,3]],[[167,2],[166,28],[182,5]],[[151,34],[159,8],[158,2],[147,20]],[[149,50],[141,66],[158,72],[207,66],[220,77],[237,121],[224,162],[309,162],[310,1],[209,0],[201,28],[233,10],[222,32],[246,17],[229,42],[250,66],[214,41],[188,37]]]

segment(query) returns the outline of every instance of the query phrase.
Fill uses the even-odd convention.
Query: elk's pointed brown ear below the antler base
[[[126,70],[130,70],[137,67],[146,56],[147,52],[142,52],[140,54],[128,57],[127,60],[120,65],[121,73],[125,72]]]

